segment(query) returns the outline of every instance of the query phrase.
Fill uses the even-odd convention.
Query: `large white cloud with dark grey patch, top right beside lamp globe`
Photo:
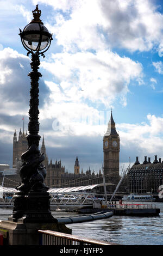
[[[45,3],[58,11],[54,17],[56,23],[47,23],[47,27],[66,51],[117,46],[129,51],[149,51],[162,41],[163,15],[150,0],[40,0],[33,3]]]

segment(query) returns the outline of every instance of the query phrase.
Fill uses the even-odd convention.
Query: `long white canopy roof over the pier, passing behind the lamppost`
[[[106,186],[108,185],[114,185],[112,183],[106,183]],[[62,188],[49,188],[48,192],[49,194],[55,194],[55,193],[69,193],[69,192],[78,192],[82,190],[92,190],[95,187],[104,186],[103,183],[96,184],[96,185],[88,185],[88,186],[80,186],[80,187],[62,187]],[[0,193],[15,193],[17,190],[15,188],[11,187],[2,187],[0,186]]]

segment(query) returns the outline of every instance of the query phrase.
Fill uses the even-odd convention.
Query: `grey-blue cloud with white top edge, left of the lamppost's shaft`
[[[17,115],[28,112],[30,59],[11,48],[0,51],[0,114]],[[43,86],[42,86],[43,84]],[[47,87],[40,80],[40,105]],[[42,96],[43,95],[43,96]]]

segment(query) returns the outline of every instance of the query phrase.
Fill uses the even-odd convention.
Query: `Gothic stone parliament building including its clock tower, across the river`
[[[16,130],[14,132],[13,138],[13,168],[17,171],[15,174],[10,175],[8,179],[8,184],[4,184],[7,187],[14,187],[17,183],[21,182],[20,176],[18,174],[21,162],[21,154],[27,151],[27,132],[24,131],[18,133],[18,138]],[[83,171],[83,168],[80,168],[78,157],[74,155],[74,170],[69,172],[65,170],[65,166],[62,166],[61,160],[52,162],[52,159],[49,161],[46,147],[45,139],[42,138],[42,145],[40,149],[41,153],[45,154],[45,161],[42,164],[46,167],[47,175],[45,178],[45,184],[48,187],[75,187],[75,186],[86,186],[93,184],[102,184],[103,183],[103,173],[99,169],[95,173],[94,170],[91,170],[89,167],[86,172]],[[109,183],[117,185],[119,180],[119,154],[120,154],[120,138],[116,132],[115,122],[112,118],[112,111],[110,115],[110,120],[108,123],[108,130],[106,131],[103,137],[103,154],[104,154],[104,165],[103,171],[105,176],[106,185]],[[0,176],[0,182],[2,177]],[[115,185],[112,187],[112,190],[115,189]]]

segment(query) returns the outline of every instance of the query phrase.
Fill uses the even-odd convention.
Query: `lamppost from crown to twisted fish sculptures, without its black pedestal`
[[[32,54],[32,63],[30,63],[32,72],[28,74],[31,78],[30,89],[30,109],[29,109],[29,124],[27,136],[28,151],[23,153],[21,158],[24,162],[20,170],[22,185],[17,189],[20,191],[46,191],[48,188],[43,184],[43,179],[46,176],[46,170],[43,168],[41,162],[45,160],[45,156],[39,151],[39,78],[42,76],[39,69],[40,59],[39,55],[43,57],[49,46],[51,45],[52,35],[47,28],[43,26],[40,20],[41,10],[33,11],[34,19],[23,29],[20,29],[21,41],[28,51],[27,55]]]

